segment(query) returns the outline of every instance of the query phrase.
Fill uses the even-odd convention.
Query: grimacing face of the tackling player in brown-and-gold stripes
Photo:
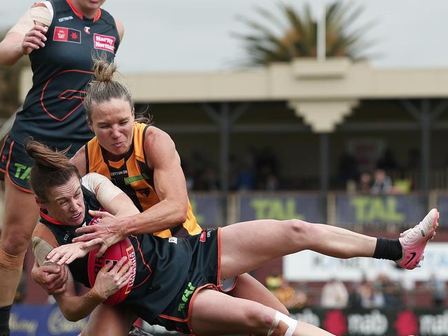
[[[134,109],[128,101],[111,99],[94,105],[89,122],[98,142],[110,160],[119,160],[132,145]]]

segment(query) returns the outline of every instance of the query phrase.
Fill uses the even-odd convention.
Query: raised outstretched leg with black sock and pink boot
[[[233,224],[221,229],[221,277],[246,273],[269,260],[305,249],[336,258],[385,258],[412,269],[422,258],[427,241],[434,236],[437,219],[437,210],[429,211],[422,222],[403,233],[400,240],[381,240],[303,220],[254,220]]]

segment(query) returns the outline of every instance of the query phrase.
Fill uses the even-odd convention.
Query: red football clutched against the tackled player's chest
[[[123,288],[121,288],[119,291],[116,291],[116,293],[108,297],[108,299],[103,302],[105,304],[113,306],[114,304],[119,304],[120,302],[125,300],[125,298],[128,296],[128,294],[132,289],[132,285],[134,284],[135,272],[136,272],[134,246],[132,246],[132,243],[129,240],[129,238],[125,238],[124,240],[121,240],[121,242],[117,242],[116,244],[110,246],[109,249],[107,249],[100,258],[95,258],[95,254],[96,252],[98,252],[98,250],[99,249],[95,249],[94,251],[90,251],[89,253],[88,276],[90,286],[94,285],[96,275],[108,261],[116,264],[117,262],[119,262],[121,258],[126,256],[128,257],[128,262],[130,263],[132,269],[131,278],[128,284]]]

